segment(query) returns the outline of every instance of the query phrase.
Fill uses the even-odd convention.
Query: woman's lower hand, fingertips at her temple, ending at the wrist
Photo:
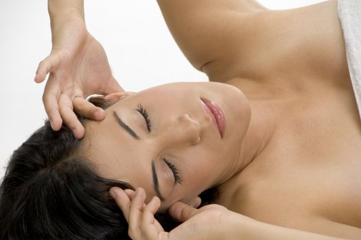
[[[112,188],[110,193],[124,213],[129,225],[128,234],[134,240],[224,239],[223,233],[231,211],[223,206],[211,204],[197,209],[183,202],[176,202],[169,211],[172,217],[183,224],[165,232],[154,218],[161,205],[158,197],[153,197],[145,204],[145,191],[141,188],[135,192]]]

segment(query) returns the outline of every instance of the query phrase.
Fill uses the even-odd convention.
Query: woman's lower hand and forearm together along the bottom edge
[[[183,202],[176,202],[169,209],[170,214],[183,224],[170,232],[165,232],[154,219],[154,213],[160,206],[158,197],[153,197],[145,204],[145,192],[142,188],[124,191],[114,187],[110,189],[110,195],[124,213],[129,224],[128,234],[132,239],[340,239],[264,224],[229,211],[218,204],[197,209],[197,204],[191,206]]]

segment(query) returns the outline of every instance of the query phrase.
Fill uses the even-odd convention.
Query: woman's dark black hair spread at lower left
[[[114,103],[91,101],[102,108]],[[0,187],[0,239],[130,239],[108,191],[134,188],[98,176],[80,144],[66,126],[54,132],[45,121],[14,151]],[[180,224],[167,213],[155,217],[165,230]]]

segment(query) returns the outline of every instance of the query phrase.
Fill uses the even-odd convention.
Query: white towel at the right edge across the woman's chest
[[[361,117],[361,0],[338,0],[347,64]]]

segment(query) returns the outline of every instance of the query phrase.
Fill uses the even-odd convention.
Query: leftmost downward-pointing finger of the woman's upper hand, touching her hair
[[[60,97],[61,88],[58,85],[58,82],[54,81],[52,75],[50,74],[49,80],[44,88],[43,93],[43,104],[45,112],[47,112],[47,117],[49,118],[51,128],[58,131],[62,125],[62,118],[59,112],[58,98]]]

